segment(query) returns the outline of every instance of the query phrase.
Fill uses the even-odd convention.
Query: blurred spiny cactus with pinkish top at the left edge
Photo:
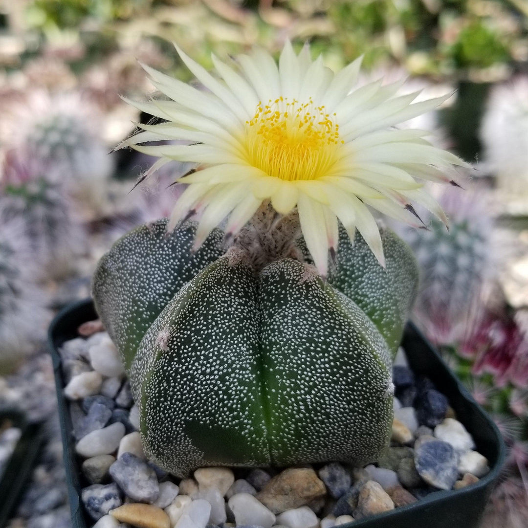
[[[25,226],[38,275],[60,277],[71,270],[82,251],[86,233],[77,222],[71,201],[53,165],[31,155],[31,149],[12,149],[3,164],[1,208],[6,219]]]

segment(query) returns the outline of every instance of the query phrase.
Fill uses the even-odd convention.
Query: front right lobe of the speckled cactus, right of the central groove
[[[392,423],[389,352],[379,332],[295,260],[266,267],[259,294],[273,462],[375,460]]]

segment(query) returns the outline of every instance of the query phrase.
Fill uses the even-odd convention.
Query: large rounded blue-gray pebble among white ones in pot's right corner
[[[458,479],[458,455],[447,442],[421,444],[414,452],[414,464],[420,477],[436,488],[451,489]]]

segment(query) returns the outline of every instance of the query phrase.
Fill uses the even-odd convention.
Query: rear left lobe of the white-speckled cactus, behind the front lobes
[[[218,229],[192,255],[196,225],[187,223],[168,237],[166,225],[166,219],[158,220],[126,234],[102,257],[93,276],[97,313],[127,372],[140,341],[168,301],[223,253]]]

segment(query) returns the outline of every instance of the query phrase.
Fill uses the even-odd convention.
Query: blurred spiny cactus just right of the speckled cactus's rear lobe
[[[449,230],[431,218],[427,229],[404,229],[401,234],[420,269],[418,322],[432,341],[447,344],[464,331],[493,270],[492,220],[485,197],[477,191],[448,188],[439,202],[449,217]]]

